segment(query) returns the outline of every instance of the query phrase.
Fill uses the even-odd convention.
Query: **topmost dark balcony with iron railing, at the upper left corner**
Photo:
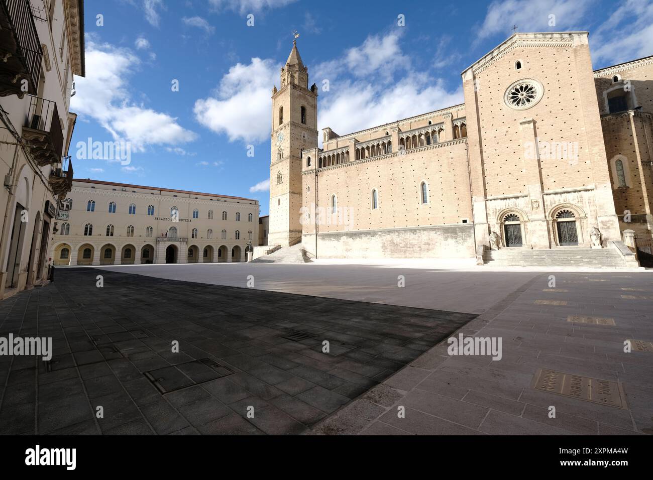
[[[29,0],[0,0],[0,97],[36,95],[42,57]]]

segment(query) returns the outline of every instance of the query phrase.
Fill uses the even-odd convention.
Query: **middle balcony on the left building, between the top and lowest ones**
[[[23,138],[41,167],[61,161],[63,130],[56,102],[30,96]]]

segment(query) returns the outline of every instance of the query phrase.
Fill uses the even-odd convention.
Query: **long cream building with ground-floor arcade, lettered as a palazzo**
[[[244,197],[75,179],[63,203],[55,265],[240,262],[259,239]]]

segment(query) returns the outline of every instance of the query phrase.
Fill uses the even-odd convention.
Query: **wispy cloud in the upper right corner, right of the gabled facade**
[[[590,36],[592,59],[623,63],[653,54],[653,3],[628,0]]]

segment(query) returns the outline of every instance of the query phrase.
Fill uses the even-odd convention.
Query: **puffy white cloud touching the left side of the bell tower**
[[[238,63],[223,76],[215,97],[195,102],[195,119],[230,141],[262,142],[270,136],[272,85],[280,66],[270,59]]]

